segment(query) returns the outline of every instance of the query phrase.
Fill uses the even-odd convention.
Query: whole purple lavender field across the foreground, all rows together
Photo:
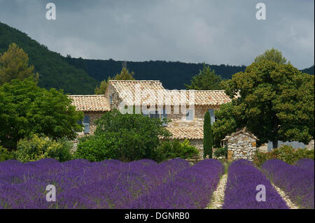
[[[184,159],[157,164],[150,159],[123,163],[55,159],[22,164],[0,163],[0,208],[206,208],[223,164],[205,159],[190,166]],[[261,169],[251,161],[234,161],[228,168],[223,209],[287,209],[272,183],[300,208],[314,208],[314,160],[295,165],[269,160]],[[47,185],[56,201],[46,200]],[[257,185],[265,186],[265,201],[257,201]]]

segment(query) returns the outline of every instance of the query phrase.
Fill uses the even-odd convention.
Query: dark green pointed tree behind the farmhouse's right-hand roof
[[[209,65],[204,64],[199,74],[193,76],[190,85],[185,86],[186,89],[216,90],[221,89],[221,81],[221,76],[217,75],[214,70],[211,70]]]

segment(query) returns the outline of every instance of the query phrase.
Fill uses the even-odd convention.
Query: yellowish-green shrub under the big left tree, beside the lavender
[[[39,159],[53,158],[58,161],[72,159],[72,144],[65,139],[54,141],[45,136],[32,136],[30,139],[21,139],[15,158],[21,162],[36,161]]]

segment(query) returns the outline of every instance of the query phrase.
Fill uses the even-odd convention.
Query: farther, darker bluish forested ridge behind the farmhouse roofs
[[[85,69],[87,73],[96,80],[102,81],[110,75],[113,77],[122,69],[123,61],[113,59],[81,59],[66,58],[69,64]],[[203,64],[192,64],[183,62],[126,62],[127,69],[134,71],[136,80],[160,80],[167,89],[185,89],[184,84],[190,84],[193,75],[199,73]],[[210,65],[217,74],[225,79],[232,78],[232,74],[244,71],[246,66]]]

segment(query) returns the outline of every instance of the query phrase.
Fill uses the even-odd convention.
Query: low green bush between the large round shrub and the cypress
[[[199,152],[195,146],[190,145],[186,139],[183,143],[178,140],[162,141],[155,150],[155,161],[161,162],[167,159],[181,158],[187,159],[196,156]]]

